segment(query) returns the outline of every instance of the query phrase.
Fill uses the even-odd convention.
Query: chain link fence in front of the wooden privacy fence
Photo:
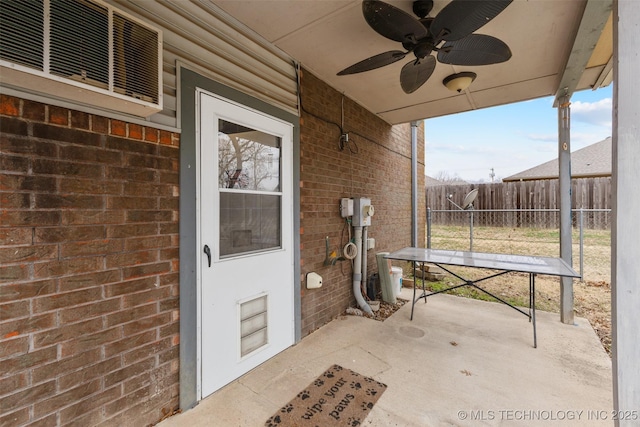
[[[557,257],[560,211],[427,210],[427,247]],[[611,283],[611,209],[572,210],[573,268]]]

